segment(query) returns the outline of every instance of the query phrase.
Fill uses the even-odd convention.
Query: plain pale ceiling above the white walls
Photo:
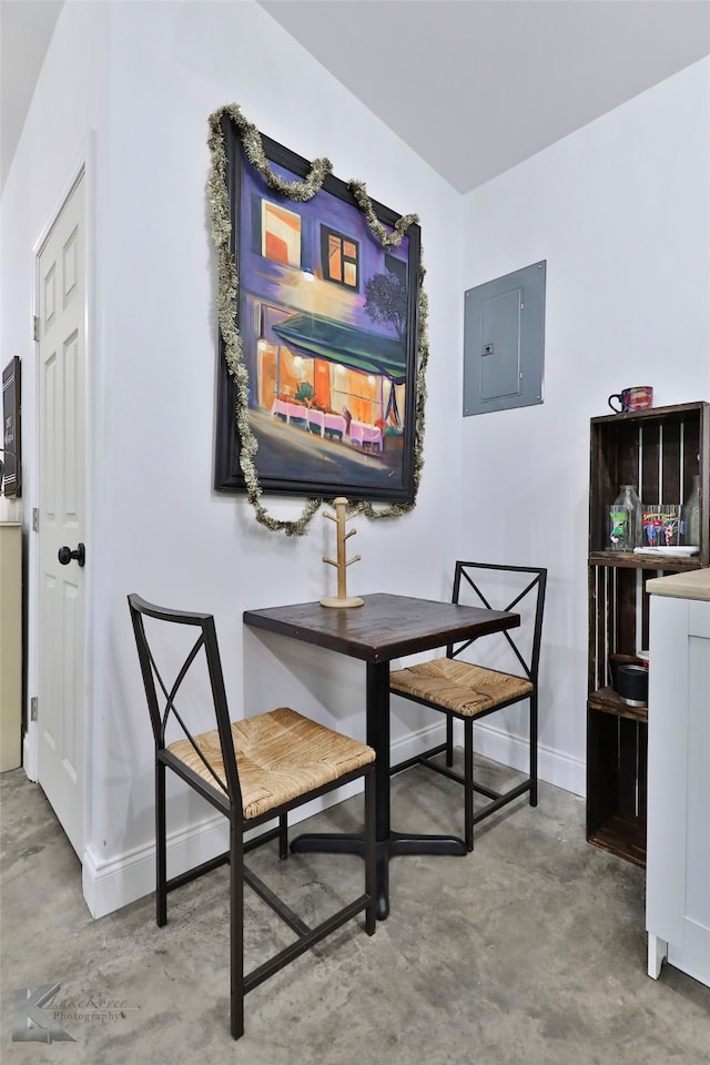
[[[62,2],[0,0],[2,185]],[[710,0],[260,2],[459,192],[710,53]]]

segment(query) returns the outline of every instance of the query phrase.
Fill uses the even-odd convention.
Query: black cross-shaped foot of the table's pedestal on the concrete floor
[[[311,852],[364,854],[362,835],[335,832],[304,833],[291,843],[294,854]],[[466,844],[456,835],[418,835],[409,832],[390,832],[388,839],[377,842],[377,920],[384,921],[389,913],[389,859],[399,854],[455,854],[465,855]]]

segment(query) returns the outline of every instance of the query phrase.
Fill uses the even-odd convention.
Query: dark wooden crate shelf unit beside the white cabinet
[[[684,504],[700,485],[700,544],[692,556],[606,549],[607,511],[621,485],[643,504]],[[590,423],[587,839],[646,864],[648,710],[610,687],[609,655],[649,647],[646,580],[710,565],[710,403],[605,415]],[[650,668],[653,663],[650,662]]]

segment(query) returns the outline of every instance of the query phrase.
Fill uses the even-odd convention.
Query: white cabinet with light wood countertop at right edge
[[[710,986],[710,570],[646,588],[648,972],[667,958]]]

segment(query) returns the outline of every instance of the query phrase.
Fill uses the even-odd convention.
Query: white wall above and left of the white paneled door
[[[61,209],[68,183],[83,163],[91,169],[88,213],[97,242],[105,215],[109,8],[100,3],[65,3],[43,64],[12,168],[0,201],[0,351],[3,364],[21,358],[22,497],[0,497],[0,520],[21,520],[26,551],[26,602],[29,605],[27,701],[37,693],[36,538],[30,532],[32,507],[39,505],[37,481],[37,353],[32,341],[36,311],[33,248],[47,235]],[[91,158],[90,158],[91,156]],[[94,203],[94,194],[97,202]],[[90,264],[90,267],[95,264]],[[95,270],[90,282],[100,296]],[[91,311],[91,328],[97,315]],[[90,379],[94,353],[91,352]],[[91,661],[88,662],[88,677]],[[33,775],[33,750],[26,744],[26,770]]]

